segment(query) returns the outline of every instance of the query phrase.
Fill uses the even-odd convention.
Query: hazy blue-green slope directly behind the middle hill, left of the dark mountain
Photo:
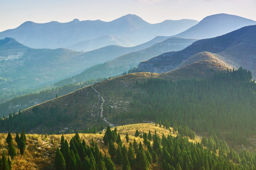
[[[156,37],[153,40],[163,40],[164,38],[166,37]],[[61,80],[60,82],[56,83],[56,85],[80,83],[88,79],[116,76],[123,72],[127,72],[130,68],[137,67],[139,62],[143,60],[150,59],[153,56],[162,54],[163,52],[178,51],[184,49],[195,41],[196,40],[194,39],[169,38],[163,42],[155,43],[154,45],[143,50],[130,52],[104,64],[92,66],[79,75]],[[147,44],[149,44],[149,42]]]

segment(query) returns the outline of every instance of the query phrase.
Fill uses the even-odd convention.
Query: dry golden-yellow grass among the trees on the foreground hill
[[[112,128],[113,130],[113,128]],[[167,136],[171,134],[176,136],[177,133],[174,134],[173,129],[170,130],[165,129],[163,127],[155,126],[152,123],[139,123],[139,124],[131,124],[117,127],[117,131],[120,134],[121,140],[123,144],[127,147],[129,146],[129,142],[133,142],[133,139],[137,141],[137,143],[141,142],[143,144],[143,138],[135,137],[134,134],[138,130],[140,133],[151,131],[151,134],[155,134],[155,130],[157,135],[160,137],[162,134]],[[129,135],[129,142],[126,142],[126,133]],[[12,170],[51,170],[54,169],[54,159],[55,159],[55,151],[57,147],[60,145],[61,135],[38,135],[38,134],[27,134],[27,145],[26,151],[24,155],[19,154],[19,150],[17,144],[15,142],[16,134],[11,134],[14,141],[14,146],[17,149],[18,155],[12,160]],[[75,134],[64,134],[65,139],[69,142],[70,139]],[[93,139],[99,146],[100,151],[104,154],[108,155],[108,148],[105,147],[102,139],[104,136],[104,131],[102,134],[79,134],[81,140],[85,140],[86,144],[91,145],[91,139]],[[0,155],[3,151],[8,153],[8,144],[6,143],[7,134],[0,134]],[[201,140],[197,137],[192,142],[201,142]],[[151,142],[152,144],[152,142]],[[146,147],[143,144],[144,147]],[[117,144],[116,144],[117,147]],[[116,166],[117,170],[120,170],[122,167]],[[150,166],[150,170],[157,170],[159,167],[155,164]]]

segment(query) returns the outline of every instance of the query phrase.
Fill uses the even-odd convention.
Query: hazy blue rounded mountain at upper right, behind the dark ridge
[[[181,38],[205,39],[227,34],[244,26],[256,25],[256,21],[229,14],[216,14],[203,18],[197,25],[174,35]]]

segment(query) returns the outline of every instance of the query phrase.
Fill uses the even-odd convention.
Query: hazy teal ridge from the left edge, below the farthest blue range
[[[110,45],[84,53],[67,49],[31,49],[13,38],[5,38],[0,40],[0,102],[168,38],[158,36],[134,47]]]

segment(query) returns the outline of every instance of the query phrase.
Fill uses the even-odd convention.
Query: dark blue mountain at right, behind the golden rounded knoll
[[[222,36],[196,41],[182,51],[163,53],[141,62],[138,71],[168,72],[203,51],[214,53],[231,68],[242,66],[250,69],[256,77],[256,26],[246,26]]]

